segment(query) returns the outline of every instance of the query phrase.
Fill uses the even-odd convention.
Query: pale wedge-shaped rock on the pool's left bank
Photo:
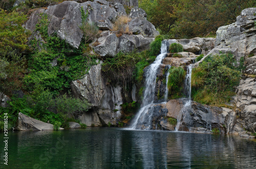
[[[19,112],[16,130],[20,131],[41,131],[41,130],[53,130],[53,125],[39,120],[28,117],[27,115]],[[63,128],[59,128],[63,129]]]

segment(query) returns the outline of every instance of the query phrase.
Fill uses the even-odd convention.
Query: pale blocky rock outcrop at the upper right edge
[[[237,22],[219,27],[216,45],[232,49],[237,59],[256,55],[256,8],[247,8],[237,17]]]

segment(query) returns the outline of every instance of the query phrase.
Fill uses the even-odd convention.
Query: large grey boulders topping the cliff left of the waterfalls
[[[109,3],[104,0],[88,1],[81,4],[66,1],[49,6],[46,10],[36,10],[32,13],[25,27],[33,33],[32,38],[40,39],[38,32],[35,32],[35,25],[41,15],[46,14],[49,20],[48,35],[53,36],[56,33],[60,39],[65,40],[72,47],[78,48],[83,37],[83,32],[79,28],[82,22],[81,8],[89,12],[88,22],[96,23],[99,29],[103,31],[97,40],[99,45],[94,47],[95,52],[102,57],[114,57],[119,51],[130,52],[136,48],[139,50],[147,49],[154,37],[159,35],[155,26],[145,19],[145,11],[135,7],[131,11],[132,21],[129,23],[129,29],[134,35],[123,34],[123,36],[117,37],[110,30],[119,16],[126,15],[125,9],[120,3]]]

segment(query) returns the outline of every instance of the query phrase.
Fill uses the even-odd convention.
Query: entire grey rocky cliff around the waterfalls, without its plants
[[[137,6],[136,2],[127,2]],[[35,25],[40,19],[39,14],[47,14],[49,18],[48,35],[57,34],[73,48],[78,48],[83,33],[79,28],[81,24],[80,9],[89,12],[88,22],[94,22],[101,30],[100,37],[95,39],[96,45],[92,45],[94,54],[105,57],[114,57],[119,51],[129,52],[137,49],[142,51],[149,47],[154,37],[159,35],[155,26],[146,20],[146,13],[135,7],[131,10],[127,23],[129,32],[117,35],[112,30],[113,24],[118,17],[127,15],[122,4],[106,2],[104,0],[94,2],[63,2],[58,5],[49,6],[47,9],[39,9],[32,13],[26,23],[26,28],[33,32],[32,37],[40,40],[35,31]],[[193,38],[180,40],[165,40],[168,45],[176,42],[182,44],[184,52],[167,53],[162,66],[158,70],[158,81],[156,85],[155,100],[163,98],[166,83],[164,78],[167,75],[167,65],[182,66],[194,63],[198,54],[216,54],[231,52],[236,56],[237,61],[245,58],[245,78],[241,80],[237,89],[237,95],[232,99],[233,109],[210,107],[196,102],[191,102],[189,114],[182,114],[184,100],[169,100],[166,104],[155,105],[150,111],[154,111],[153,129],[174,130],[175,125],[168,122],[168,118],[178,119],[184,117],[179,128],[184,131],[210,132],[212,128],[218,128],[221,133],[239,133],[247,136],[245,130],[256,131],[256,8],[245,9],[237,17],[237,22],[222,26],[217,31],[215,38]],[[101,72],[102,61],[91,67],[88,74],[83,78],[71,82],[71,89],[74,96],[86,98],[92,108],[79,118],[82,123],[88,126],[118,125],[123,117],[121,104],[124,102],[137,101],[138,89],[126,91],[117,84],[109,83]],[[166,67],[167,66],[167,67]],[[158,92],[159,91],[159,92]],[[158,95],[159,93],[159,95]],[[235,108],[236,107],[236,108]]]

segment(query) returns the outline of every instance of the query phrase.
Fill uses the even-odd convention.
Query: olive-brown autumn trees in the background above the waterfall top
[[[139,0],[139,7],[145,10],[147,20],[152,22],[166,39],[189,39],[215,34],[220,26],[235,22],[243,9],[256,7],[256,2]]]

